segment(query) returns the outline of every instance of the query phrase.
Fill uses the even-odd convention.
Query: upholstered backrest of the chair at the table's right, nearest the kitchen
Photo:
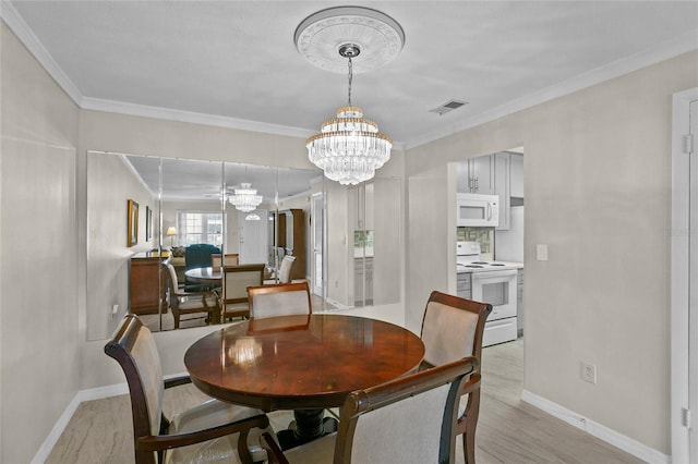
[[[424,361],[432,366],[482,354],[484,322],[492,305],[432,292],[422,319]]]

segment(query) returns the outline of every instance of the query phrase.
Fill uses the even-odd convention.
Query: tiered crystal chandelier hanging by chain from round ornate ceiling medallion
[[[308,158],[325,176],[342,185],[372,179],[375,170],[390,159],[393,141],[351,105],[353,60],[369,50],[365,58],[357,60],[358,72],[386,64],[402,48],[402,28],[380,11],[338,7],[306,17],[296,29],[294,39],[299,52],[312,64],[337,72],[337,59],[346,59],[349,71],[348,105],[337,110],[336,118],[325,121],[318,134],[308,138]]]

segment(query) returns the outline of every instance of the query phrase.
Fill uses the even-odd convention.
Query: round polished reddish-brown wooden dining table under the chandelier
[[[335,431],[324,408],[416,371],[424,344],[399,326],[312,314],[251,319],[200,339],[184,354],[192,382],[210,396],[263,411],[293,410],[284,449]]]

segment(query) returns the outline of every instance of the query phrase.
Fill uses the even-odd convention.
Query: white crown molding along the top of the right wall
[[[473,118],[456,121],[447,127],[433,131],[420,137],[414,137],[405,143],[405,149],[414,148],[420,145],[447,137],[467,129],[504,118],[517,111],[591,87],[602,82],[610,81],[614,77],[628,74],[633,71],[637,71],[696,49],[698,49],[698,28],[684,34],[674,40],[660,44],[657,47],[649,48],[630,57],[616,60],[604,66],[579,74],[559,84],[555,84],[525,97],[517,98],[505,105],[493,108],[492,110],[484,111]]]

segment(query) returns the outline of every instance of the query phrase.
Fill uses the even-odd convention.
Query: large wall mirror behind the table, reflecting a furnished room
[[[153,330],[172,330],[161,262],[186,283],[186,248],[202,243],[265,264],[267,282],[293,255],[292,279],[310,280],[322,309],[400,300],[399,179],[345,187],[320,171],[104,151],[88,151],[86,167],[88,340],[109,337],[128,308]],[[229,202],[243,183],[262,196],[252,211]],[[129,199],[142,216],[133,246]]]

